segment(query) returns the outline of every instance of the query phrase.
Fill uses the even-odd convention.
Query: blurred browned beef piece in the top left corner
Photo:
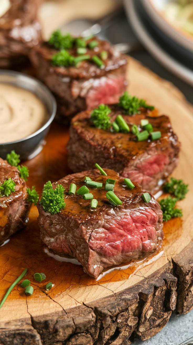
[[[36,20],[41,0],[10,0],[10,9],[0,18],[0,67],[23,61],[23,56],[42,41]]]

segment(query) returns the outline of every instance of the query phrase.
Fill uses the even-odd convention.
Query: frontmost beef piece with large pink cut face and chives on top
[[[60,213],[47,213],[37,205],[42,241],[52,252],[76,258],[95,278],[104,268],[147,257],[163,240],[162,211],[154,197],[151,195],[151,201],[145,203],[137,183],[130,190],[117,172],[105,171],[107,176],[100,175],[99,170],[87,170],[59,180],[57,183],[65,188],[66,202]],[[68,195],[71,183],[77,189],[85,185],[85,176],[103,183],[99,189],[89,187],[98,200],[96,209],[91,209],[90,200],[81,195]],[[122,205],[112,206],[106,198],[107,178],[116,180],[114,193]],[[55,188],[56,183],[52,186]]]

